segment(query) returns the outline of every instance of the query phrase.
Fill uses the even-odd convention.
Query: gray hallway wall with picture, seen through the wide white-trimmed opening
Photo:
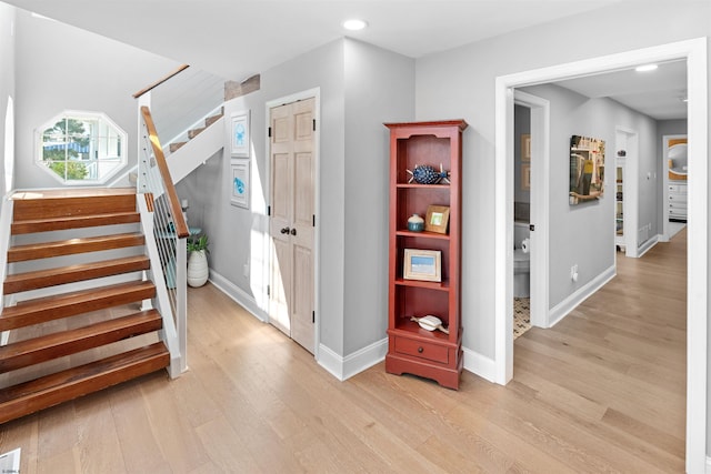
[[[614,170],[615,129],[639,134],[639,225],[657,228],[661,196],[657,193],[657,122],[610,99],[589,99],[554,84],[525,88],[528,93],[551,103],[550,161],[550,258],[549,301],[551,307],[614,264]],[[604,198],[570,205],[569,150],[571,135],[593,137],[605,142]],[[649,179],[648,179],[649,173]],[[579,269],[578,282],[570,280],[570,266]]]

